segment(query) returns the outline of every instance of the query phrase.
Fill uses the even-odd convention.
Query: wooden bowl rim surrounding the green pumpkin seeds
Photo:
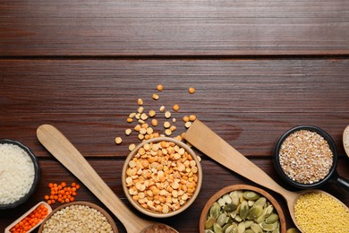
[[[273,196],[271,196],[266,191],[264,191],[263,189],[260,189],[259,187],[256,187],[256,186],[234,185],[234,186],[226,186],[226,187],[222,188],[216,194],[213,194],[209,198],[209,201],[205,204],[203,210],[201,211],[200,222],[199,222],[200,233],[205,232],[204,226],[205,226],[205,222],[207,220],[207,215],[209,213],[209,209],[212,206],[212,204],[217,202],[217,200],[220,197],[222,197],[224,194],[228,194],[232,191],[238,191],[238,190],[254,191],[254,192],[266,197],[268,202],[271,203],[274,206],[275,210],[277,211],[277,214],[279,217],[279,222],[280,222],[280,232],[283,232],[283,233],[286,232],[286,221],[285,221],[284,211],[281,209],[281,206],[277,203],[277,200],[275,200]]]

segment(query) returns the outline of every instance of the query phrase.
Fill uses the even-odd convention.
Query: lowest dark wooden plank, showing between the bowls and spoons
[[[44,149],[40,150],[41,152],[45,152]],[[50,157],[52,158],[52,157]],[[44,158],[39,158],[40,166],[41,166],[41,180],[38,185],[38,189],[36,193],[30,197],[30,200],[27,203],[24,203],[21,206],[21,211],[19,209],[14,209],[11,211],[0,211],[0,229],[4,229],[8,225],[11,224],[13,220],[20,217],[22,213],[26,210],[30,209],[35,203],[44,200],[44,196],[48,194],[49,189],[47,188],[47,184],[49,182],[60,183],[62,181],[70,184],[72,182],[78,182],[81,184],[72,174],[62,167],[57,160],[47,160]],[[125,195],[123,194],[123,187],[121,185],[121,170],[123,166],[123,160],[89,160],[90,164],[93,168],[96,169],[99,176],[102,177],[108,186],[112,188],[116,195],[118,195],[123,203],[126,203],[129,208],[133,208],[130,203],[128,203]],[[269,176],[273,177],[280,182],[276,172],[273,170],[271,161],[268,159],[252,159],[252,162],[257,164],[260,168],[265,170]],[[203,185],[200,190],[200,194],[198,199],[192,204],[192,206],[183,213],[170,218],[170,219],[157,219],[158,221],[164,222],[171,226],[174,226],[180,232],[197,232],[199,228],[199,219],[200,212],[203,209],[205,203],[209,200],[209,197],[215,194],[219,189],[225,186],[237,185],[237,184],[249,184],[252,186],[256,186],[250,181],[246,180],[243,177],[236,175],[234,172],[223,168],[218,165],[216,162],[211,160],[203,160],[201,162],[202,168],[204,169],[204,180]],[[346,167],[349,165],[348,160],[343,158],[343,160],[339,163],[338,172],[343,174],[344,176],[348,176],[348,170]],[[263,188],[264,189],[264,188]],[[272,194],[281,204],[283,210],[285,210],[285,218],[287,222],[287,228],[291,228],[294,226],[288,212],[287,207],[285,205],[285,200],[278,194],[275,194],[272,191],[266,190],[269,194]],[[349,203],[349,197],[345,194],[340,193],[336,189],[333,189],[333,186],[324,187],[324,190],[328,191],[330,194],[335,195],[337,198],[342,200],[345,204]],[[86,189],[85,186],[81,185],[81,189],[78,191],[78,195],[76,197],[77,201],[87,201],[91,203],[97,203],[102,208],[106,209],[102,203],[98,201],[98,199]],[[53,208],[56,208],[60,205],[60,203],[55,203],[52,205]],[[135,209],[132,209],[136,211]],[[110,211],[109,211],[110,213]],[[144,215],[141,215],[143,216]],[[119,220],[114,217],[114,220],[117,224],[120,232],[125,232],[123,229],[123,225]],[[34,231],[35,232],[35,231]]]

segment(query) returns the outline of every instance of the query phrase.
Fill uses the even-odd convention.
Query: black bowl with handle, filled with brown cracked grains
[[[336,144],[324,130],[312,125],[289,129],[277,142],[274,167],[285,182],[299,189],[332,182],[349,191],[349,182],[336,172]]]

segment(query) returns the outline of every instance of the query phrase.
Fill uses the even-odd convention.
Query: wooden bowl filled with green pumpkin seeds
[[[200,233],[285,232],[285,215],[277,201],[256,186],[226,186],[205,204]]]

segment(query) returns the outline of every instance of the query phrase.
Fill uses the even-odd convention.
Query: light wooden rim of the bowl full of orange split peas
[[[177,145],[181,146],[184,148],[185,151],[187,151],[188,153],[190,153],[192,155],[192,159],[196,161],[196,166],[198,168],[198,182],[197,182],[197,186],[195,188],[195,192],[192,194],[192,197],[183,204],[183,206],[181,206],[178,210],[175,211],[169,211],[168,213],[160,213],[157,211],[151,211],[151,210],[146,210],[143,207],[141,207],[138,203],[136,203],[135,201],[133,201],[131,194],[128,193],[128,187],[126,186],[126,169],[128,168],[128,164],[130,162],[130,160],[132,160],[133,155],[140,149],[140,147],[142,147],[144,144],[146,143],[150,143],[150,142],[162,142],[162,141],[168,141],[168,142],[174,142]],[[127,200],[132,204],[132,206],[137,209],[138,211],[150,216],[150,217],[155,217],[155,218],[167,218],[167,217],[172,217],[174,215],[177,215],[183,211],[185,211],[189,206],[192,205],[192,203],[195,201],[195,199],[197,198],[197,196],[200,193],[200,188],[202,185],[202,178],[203,178],[203,173],[202,173],[202,168],[201,168],[201,164],[200,161],[197,158],[197,155],[194,151],[192,151],[192,149],[186,145],[185,143],[176,140],[174,138],[170,138],[170,137],[157,137],[157,138],[152,138],[143,142],[140,142],[127,156],[126,160],[124,160],[123,162],[123,172],[122,172],[122,185],[123,185],[123,193],[126,195]]]

